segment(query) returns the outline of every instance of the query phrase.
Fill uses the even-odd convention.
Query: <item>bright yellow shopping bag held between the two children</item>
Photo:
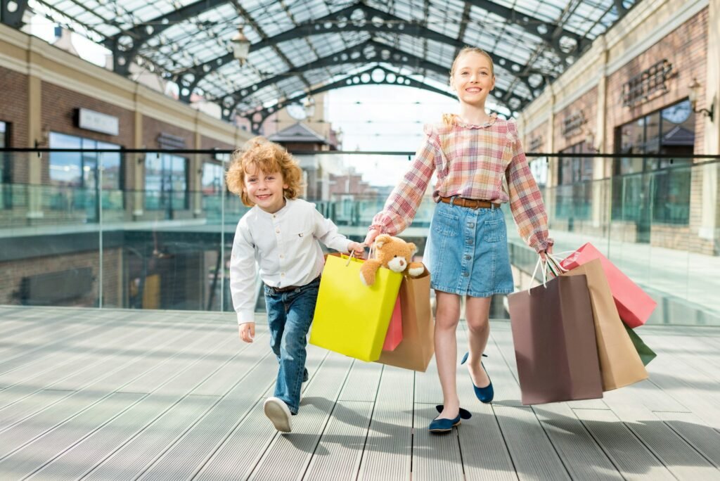
[[[362,361],[382,351],[402,274],[381,267],[375,283],[360,280],[362,259],[334,253],[325,259],[310,343]]]

